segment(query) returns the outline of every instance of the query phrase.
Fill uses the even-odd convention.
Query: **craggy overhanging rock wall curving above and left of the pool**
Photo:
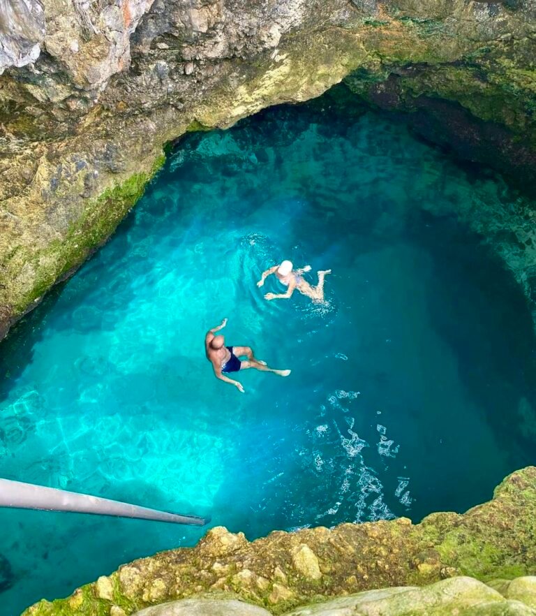
[[[112,233],[165,142],[345,78],[359,96],[416,114],[419,126],[435,118],[431,138],[484,159],[491,143],[489,162],[532,173],[536,0],[1,0],[0,8],[0,337]],[[438,100],[455,119],[445,133]],[[530,291],[529,261],[519,278]]]

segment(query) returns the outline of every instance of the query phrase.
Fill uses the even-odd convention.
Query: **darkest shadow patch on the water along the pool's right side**
[[[472,249],[475,240],[456,220],[422,210],[415,210],[412,218],[412,240],[433,256],[435,277],[454,290],[441,298],[429,295],[431,323],[454,349],[468,396],[485,413],[498,440],[515,443],[508,450],[515,452],[516,464],[533,464],[536,334],[530,304],[491,247]],[[501,309],[491,310],[491,305]]]

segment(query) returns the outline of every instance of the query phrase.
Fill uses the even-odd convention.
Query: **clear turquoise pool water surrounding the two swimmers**
[[[248,538],[489,499],[534,463],[535,335],[460,204],[514,197],[384,117],[277,108],[188,135],[117,234],[2,344],[0,476]],[[431,214],[430,205],[445,212]],[[326,305],[266,302],[283,258]],[[207,328],[291,368],[216,381]],[[2,613],[200,529],[0,511]],[[8,587],[9,586],[9,587]]]

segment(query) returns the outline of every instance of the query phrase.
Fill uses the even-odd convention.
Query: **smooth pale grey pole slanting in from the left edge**
[[[89,494],[77,494],[54,487],[44,487],[32,483],[0,479],[0,507],[19,509],[43,509],[45,511],[70,511],[72,513],[92,513],[94,515],[115,515],[118,518],[137,518],[139,520],[156,520],[204,526],[210,518],[197,515],[179,515],[158,511],[138,505],[121,503]]]

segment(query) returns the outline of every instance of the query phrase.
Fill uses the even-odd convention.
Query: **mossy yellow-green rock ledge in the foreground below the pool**
[[[241,533],[216,527],[195,548],[161,552],[126,564],[116,573],[77,589],[68,599],[36,603],[24,616],[124,616],[196,596],[242,599],[281,614],[328,597],[426,585],[433,586],[395,588],[368,598],[357,595],[338,601],[333,609],[354,601],[364,610],[363,606],[373,605],[373,597],[378,609],[385,608],[381,613],[393,615],[408,613],[408,606],[412,606],[411,613],[424,614],[417,611],[417,605],[426,602],[443,609],[438,613],[464,606],[467,610],[463,613],[475,615],[530,615],[536,609],[535,580],[526,576],[536,574],[535,536],[536,467],[528,467],[507,477],[489,503],[463,515],[433,513],[418,525],[401,518],[295,533],[274,531],[251,543]],[[489,587],[458,576],[470,576]],[[447,605],[450,594],[453,603]],[[509,601],[503,601],[501,595]],[[524,605],[517,606],[516,601]],[[477,611],[471,602],[485,603],[488,611]],[[175,607],[142,614],[184,613],[180,603]],[[293,614],[322,614],[322,609],[307,608]],[[215,613],[225,613],[222,610]],[[252,610],[244,608],[244,614],[253,616]]]

